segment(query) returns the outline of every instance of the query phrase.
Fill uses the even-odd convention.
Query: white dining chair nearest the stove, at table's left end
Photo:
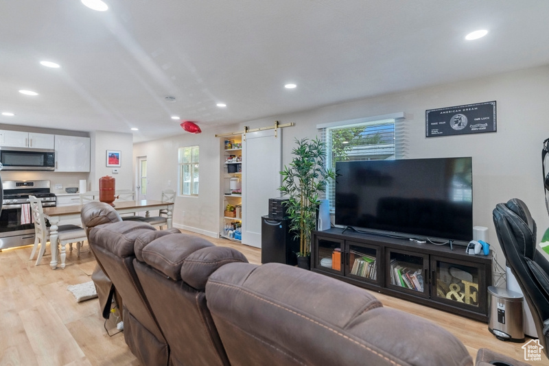
[[[34,258],[38,244],[40,244],[40,251],[38,252],[38,258],[36,258],[36,264],[40,265],[42,257],[46,251],[46,243],[49,240],[49,228],[47,228],[46,220],[44,218],[44,211],[42,202],[35,196],[29,196],[30,208],[32,212],[32,218],[34,219],[34,247],[30,254],[29,260]],[[59,225],[58,226],[58,242],[54,245],[66,245],[69,244],[71,251],[73,249],[73,243],[76,243],[76,253],[80,256],[80,247],[82,243],[88,240],[84,229],[78,225]],[[50,243],[52,245],[52,243]]]

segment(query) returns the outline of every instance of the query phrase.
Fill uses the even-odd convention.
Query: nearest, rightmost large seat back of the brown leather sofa
[[[463,343],[431,321],[296,267],[224,265],[206,298],[234,364],[473,365]]]

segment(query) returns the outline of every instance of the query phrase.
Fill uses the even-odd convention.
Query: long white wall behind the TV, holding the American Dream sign
[[[299,90],[298,90],[299,92]],[[308,93],[305,90],[301,93]],[[393,112],[405,112],[406,158],[472,156],[474,184],[474,225],[489,228],[489,242],[500,252],[493,228],[495,204],[518,197],[528,205],[539,227],[538,239],[549,226],[541,181],[541,143],[549,137],[549,66],[383,95],[371,99],[318,108],[307,112],[250,121],[235,127],[203,130],[200,135],[181,135],[137,144],[134,157],[147,155],[158,167],[154,176],[158,191],[165,180],[176,180],[176,149],[200,143],[200,197],[176,202],[185,217],[174,223],[207,232],[218,230],[220,148],[213,135],[280,123],[295,123],[283,133],[283,164],[292,158],[295,138],[316,136],[316,125]],[[498,132],[425,138],[425,110],[484,101],[497,102]],[[152,164],[149,164],[152,167]],[[211,171],[210,171],[211,169]],[[204,175],[204,179],[202,179]],[[207,177],[207,178],[206,178]],[[151,184],[150,188],[153,186]],[[257,202],[257,204],[265,204]],[[192,217],[189,217],[191,212]],[[500,263],[502,262],[500,258]]]

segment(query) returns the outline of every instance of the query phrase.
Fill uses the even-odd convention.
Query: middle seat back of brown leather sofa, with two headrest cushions
[[[172,365],[229,365],[204,291],[211,273],[226,263],[247,263],[246,257],[188,234],[138,239],[135,248],[137,276],[170,345]]]

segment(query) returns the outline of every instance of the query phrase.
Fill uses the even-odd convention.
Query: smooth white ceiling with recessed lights
[[[139,142],[549,64],[547,0],[104,1],[0,0],[0,123]]]

